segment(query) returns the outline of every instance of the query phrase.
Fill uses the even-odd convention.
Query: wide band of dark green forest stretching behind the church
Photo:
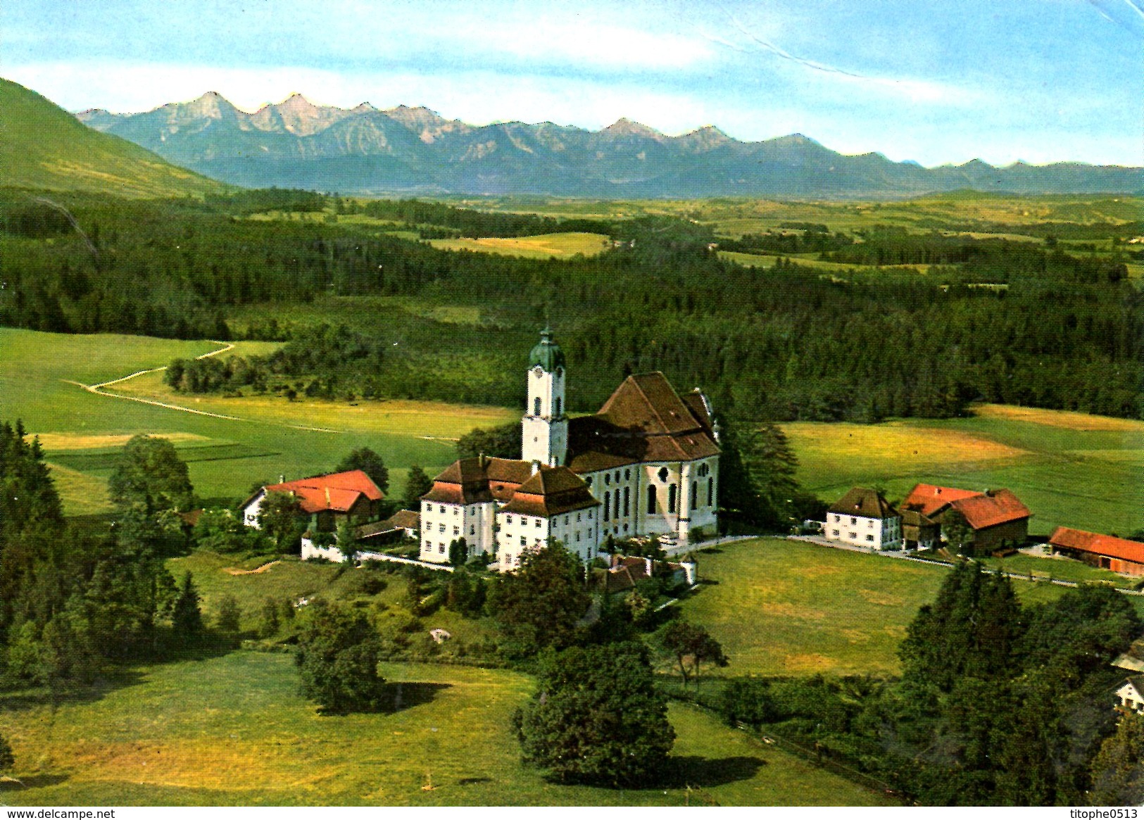
[[[753,419],[948,416],[976,399],[1142,412],[1144,305],[1118,248],[898,230],[843,241],[803,228],[801,242],[855,266],[824,274],[799,260],[740,266],[720,258],[710,228],[669,217],[596,223],[621,246],[535,261],[438,250],[379,220],[340,217],[333,200],[310,218],[243,217],[252,204],[316,210],[304,192],[62,201],[79,230],[54,208],[3,198],[0,323],[288,342],[268,359],[200,363],[213,369],[176,383],[186,390],[516,406],[524,351],[547,320],[567,351],[578,411],[595,409],[628,373],[662,369]],[[453,231],[479,222],[500,236],[534,224],[440,206],[366,208]],[[566,224],[548,222],[535,224]],[[924,272],[859,268],[911,263]]]

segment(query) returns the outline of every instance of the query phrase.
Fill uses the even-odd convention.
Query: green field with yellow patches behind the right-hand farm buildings
[[[836,500],[851,486],[899,500],[920,481],[1008,487],[1033,511],[1030,532],[1144,527],[1144,422],[983,405],[969,419],[784,424],[799,479]]]

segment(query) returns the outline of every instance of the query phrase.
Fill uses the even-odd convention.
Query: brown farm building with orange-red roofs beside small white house
[[[901,509],[919,512],[939,524],[947,524],[953,517],[952,511],[960,514],[972,531],[970,543],[982,550],[995,549],[1004,541],[1020,543],[1027,540],[1032,515],[1008,489],[982,493],[932,484],[914,486],[901,502]]]

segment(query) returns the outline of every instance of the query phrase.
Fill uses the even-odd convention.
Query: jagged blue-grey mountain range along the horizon
[[[94,110],[79,119],[208,176],[259,188],[611,198],[1144,190],[1139,168],[979,160],[923,168],[877,153],[843,156],[801,135],[746,143],[707,127],[669,137],[626,119],[599,132],[551,122],[475,127],[423,108],[344,110],[301,95],[253,114],[210,93],[146,113]]]

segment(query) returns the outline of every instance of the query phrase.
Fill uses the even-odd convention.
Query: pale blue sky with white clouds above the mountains
[[[301,93],[925,166],[1144,166],[1144,0],[3,0],[0,77],[71,111]]]

